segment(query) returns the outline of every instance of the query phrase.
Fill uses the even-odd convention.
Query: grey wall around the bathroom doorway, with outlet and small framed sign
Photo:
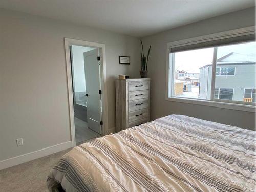
[[[109,128],[118,74],[139,77],[140,41],[0,9],[0,160],[71,140],[64,37],[106,45]],[[118,56],[131,56],[119,65]],[[17,147],[16,139],[24,145]]]

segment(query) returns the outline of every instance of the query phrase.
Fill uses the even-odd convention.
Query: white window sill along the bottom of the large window
[[[247,111],[247,112],[253,112],[253,113],[255,113],[255,109],[256,109],[255,105],[224,103],[224,102],[217,102],[217,101],[210,101],[210,100],[198,100],[198,99],[180,98],[180,97],[172,97],[172,98],[168,97],[165,100],[173,101],[173,102],[189,103],[189,104],[198,104],[198,105],[204,105],[204,106],[212,106],[214,108]]]

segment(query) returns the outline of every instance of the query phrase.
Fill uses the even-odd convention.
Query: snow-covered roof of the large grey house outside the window
[[[243,65],[243,64],[255,63],[255,62],[256,62],[256,57],[252,57],[250,55],[245,55],[245,54],[231,52],[231,53],[229,53],[227,55],[224,55],[223,57],[218,58],[216,64],[217,65],[233,65],[233,64],[241,64],[241,65]],[[204,68],[206,66],[211,66],[211,65],[212,64],[208,64],[208,65],[202,66],[201,68]]]

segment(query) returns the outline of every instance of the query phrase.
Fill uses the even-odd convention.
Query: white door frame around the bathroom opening
[[[72,71],[70,62],[70,47],[72,45],[95,47],[99,48],[100,61],[101,61],[101,102],[102,102],[102,134],[105,135],[106,130],[108,130],[108,99],[107,99],[107,88],[106,88],[106,55],[105,55],[105,44],[100,44],[98,42],[90,42],[84,40],[77,40],[72,38],[64,38],[65,42],[65,54],[66,54],[66,68],[67,68],[67,80],[68,80],[68,96],[69,96],[69,116],[70,116],[70,131],[71,131],[71,141],[72,146],[76,146],[75,137],[75,119],[74,119],[74,105],[73,105],[73,90],[72,90]]]

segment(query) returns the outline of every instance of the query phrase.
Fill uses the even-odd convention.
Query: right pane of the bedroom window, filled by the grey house
[[[255,89],[255,62],[256,42],[217,48],[216,71],[220,68],[220,75],[215,77],[215,88],[220,88],[219,99],[255,102],[246,99],[252,98]]]

